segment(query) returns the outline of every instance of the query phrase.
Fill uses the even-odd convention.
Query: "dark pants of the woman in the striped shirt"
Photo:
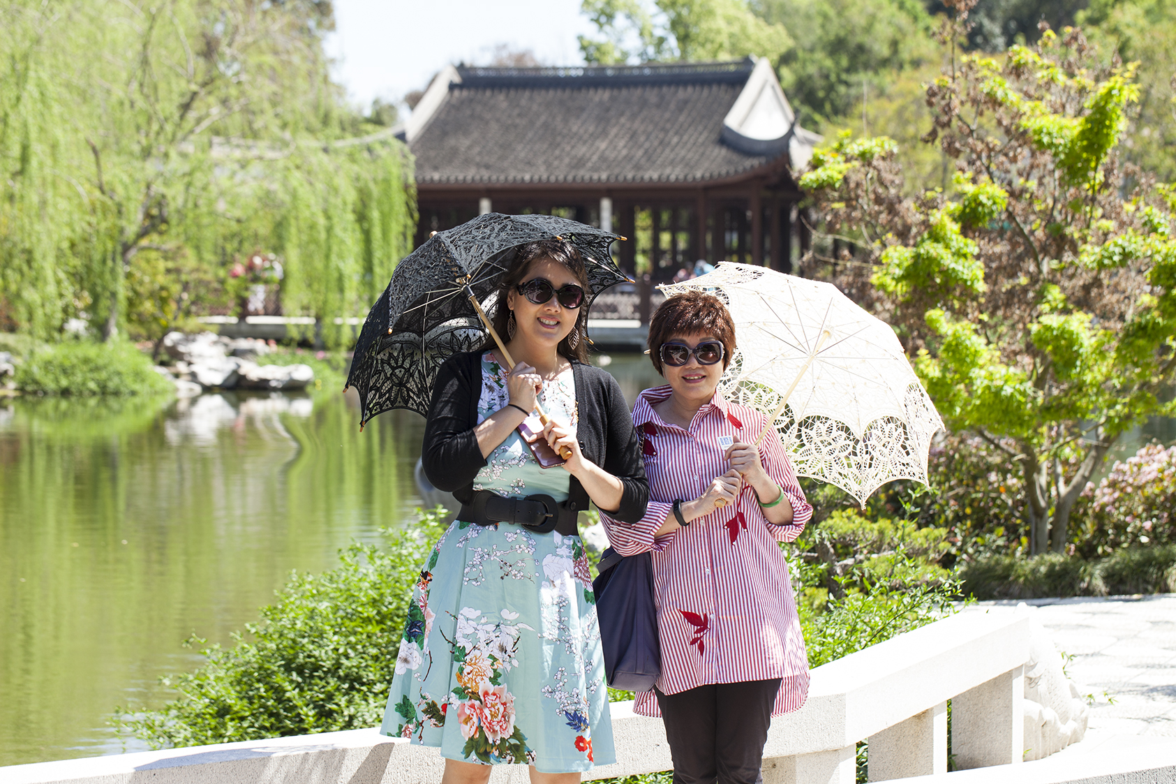
[[[674,784],[756,784],[780,678],[657,691]]]

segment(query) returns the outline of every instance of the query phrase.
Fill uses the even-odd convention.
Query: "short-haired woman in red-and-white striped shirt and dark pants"
[[[716,297],[690,292],[657,310],[649,354],[668,384],[633,408],[648,511],[635,524],[603,516],[617,552],[653,553],[662,672],[635,711],[661,713],[675,784],[755,782],[770,718],[808,693],[777,543],[800,536],[813,507],[768,418],[716,392],[734,350]]]

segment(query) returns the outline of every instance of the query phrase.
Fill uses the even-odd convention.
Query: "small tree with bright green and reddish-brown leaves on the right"
[[[838,140],[801,186],[868,247],[847,286],[870,277],[949,426],[1021,467],[1031,551],[1062,551],[1107,450],[1176,413],[1176,200],[1121,166],[1134,69],[1100,68],[1078,31],[965,55],[927,95],[956,198],[904,197],[880,141]]]

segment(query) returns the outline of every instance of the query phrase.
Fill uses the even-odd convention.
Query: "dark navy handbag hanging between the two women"
[[[649,691],[661,673],[653,559],[648,552],[626,557],[608,547],[597,566],[592,590],[608,685]]]

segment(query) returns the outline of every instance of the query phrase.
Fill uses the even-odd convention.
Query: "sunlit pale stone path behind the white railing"
[[[1130,735],[1176,742],[1176,593],[1025,604],[1037,607],[1058,650],[1074,657],[1067,675],[1095,697],[1087,740]]]

